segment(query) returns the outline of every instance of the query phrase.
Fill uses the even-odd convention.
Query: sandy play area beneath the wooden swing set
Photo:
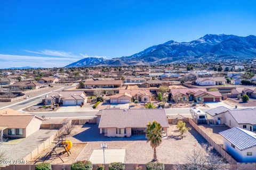
[[[42,163],[44,159],[46,158],[46,155],[49,154],[51,151],[51,148],[54,147],[54,143],[45,149],[41,154],[39,154],[35,159],[31,161],[31,164],[38,164]],[[61,159],[64,161],[64,163],[61,161],[61,159],[57,156],[57,154],[53,153],[52,156],[49,156],[45,162],[50,164],[72,164],[77,156],[81,153],[81,151],[86,146],[86,143],[73,143],[73,147],[70,149],[71,155],[68,156],[67,152],[64,148],[57,148],[56,151],[60,155]]]

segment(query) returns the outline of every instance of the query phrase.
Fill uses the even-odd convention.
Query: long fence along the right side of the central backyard
[[[227,160],[230,164],[229,169],[241,169],[241,170],[256,170],[256,163],[238,163],[236,160],[231,157],[225,149],[218,145],[214,140],[212,140],[209,135],[207,135],[191,118],[189,118],[189,124],[201,134],[204,139],[210,143],[210,145],[219,152],[219,154]]]

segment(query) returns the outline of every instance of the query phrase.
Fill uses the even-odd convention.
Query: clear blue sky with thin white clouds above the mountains
[[[130,56],[207,33],[256,35],[256,1],[0,0],[0,68]]]

